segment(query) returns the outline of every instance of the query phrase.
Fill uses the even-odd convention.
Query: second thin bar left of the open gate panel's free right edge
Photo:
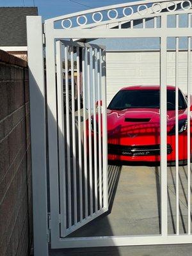
[[[95,49],[93,50],[93,136],[94,136],[94,173],[95,173],[95,212],[98,211],[97,187],[97,121],[96,121],[96,84],[95,84]],[[97,56],[97,55],[96,55]]]

